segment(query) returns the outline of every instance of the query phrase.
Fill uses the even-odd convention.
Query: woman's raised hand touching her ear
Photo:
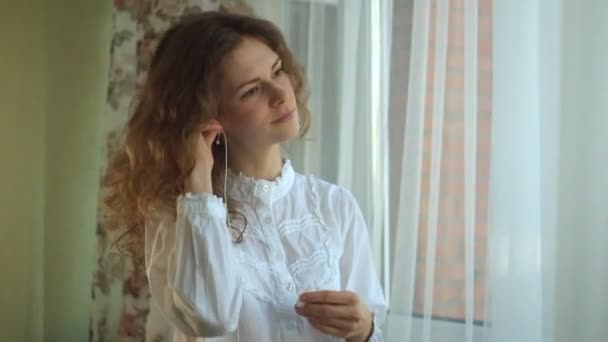
[[[184,184],[186,192],[195,194],[213,193],[211,170],[213,169],[213,153],[211,146],[222,131],[222,126],[212,120],[200,126],[200,134],[196,142],[195,164]]]

